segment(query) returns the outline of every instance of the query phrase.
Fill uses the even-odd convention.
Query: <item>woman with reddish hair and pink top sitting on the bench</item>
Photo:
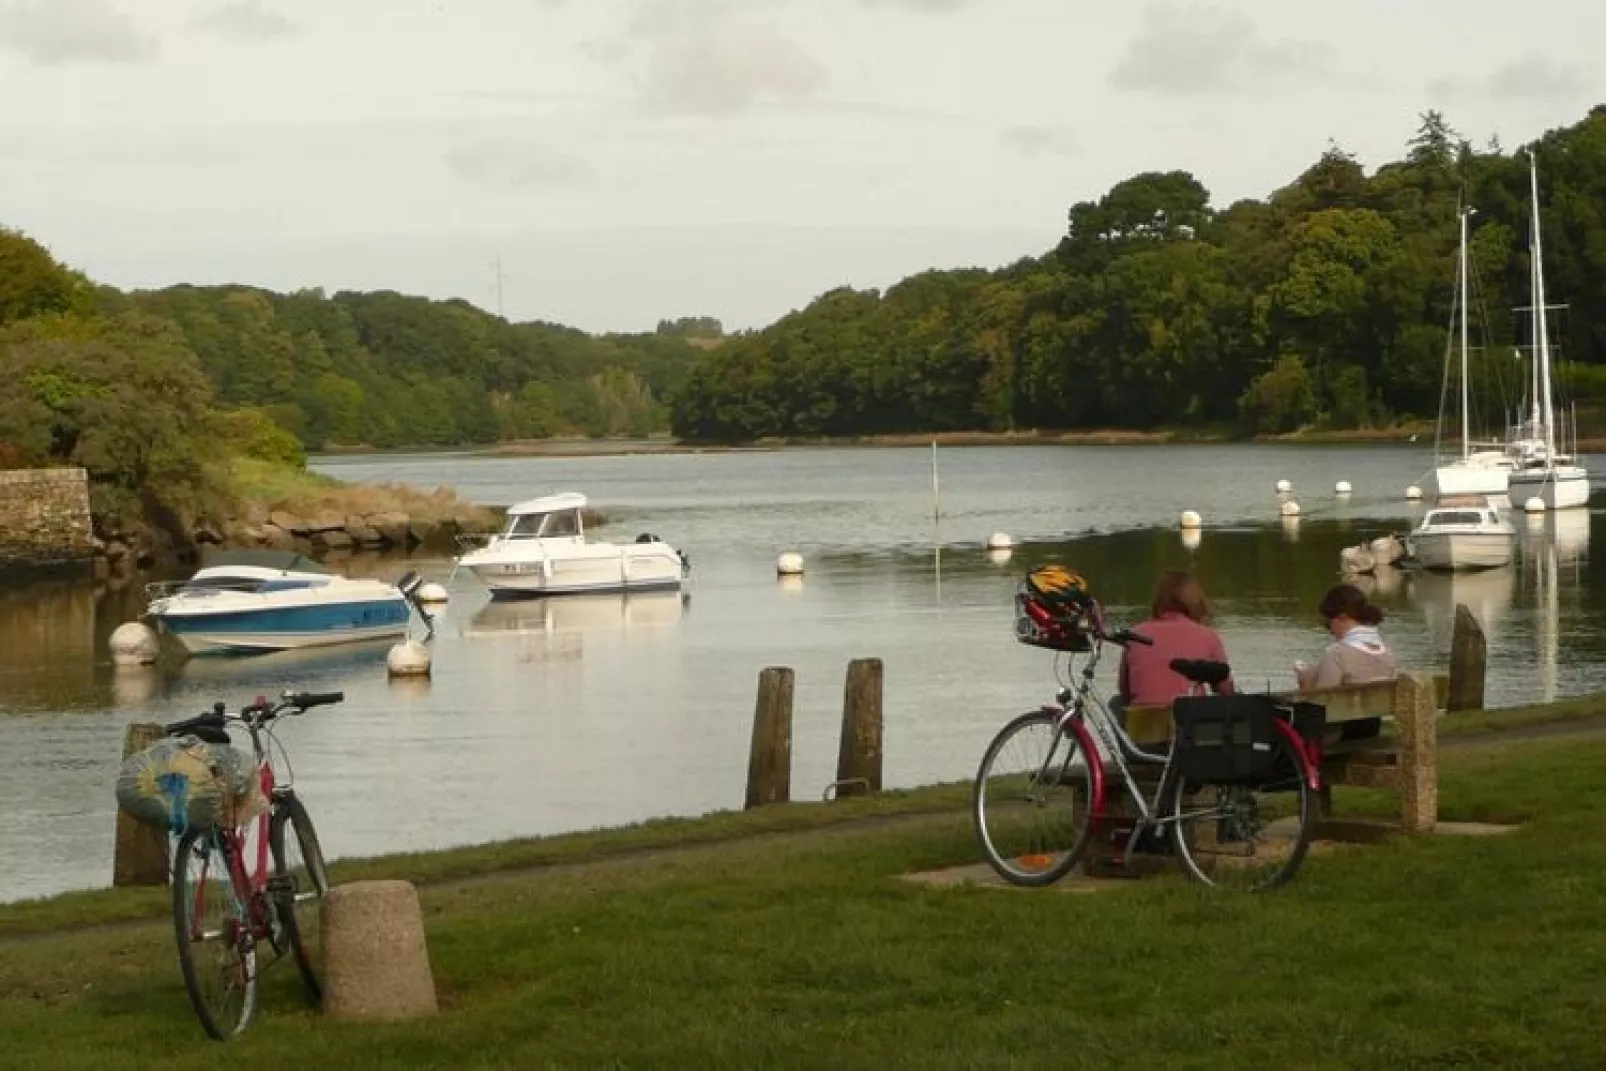
[[[1168,707],[1179,695],[1193,690],[1193,684],[1171,668],[1172,658],[1208,658],[1227,662],[1227,647],[1209,626],[1209,602],[1204,589],[1192,573],[1168,568],[1155,584],[1155,604],[1150,620],[1132,628],[1150,637],[1152,647],[1131,644],[1121,655],[1119,698],[1121,707]],[[1232,679],[1216,686],[1216,692],[1232,695],[1237,690]]]

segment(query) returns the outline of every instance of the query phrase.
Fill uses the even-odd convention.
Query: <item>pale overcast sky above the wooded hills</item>
[[[0,0],[0,226],[120,287],[756,328],[1606,101],[1598,0]]]

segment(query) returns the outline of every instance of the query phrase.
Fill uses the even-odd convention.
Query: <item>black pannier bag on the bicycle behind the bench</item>
[[[1171,705],[1176,721],[1172,764],[1184,780],[1204,785],[1261,785],[1275,780],[1277,700],[1270,695],[1185,695]]]

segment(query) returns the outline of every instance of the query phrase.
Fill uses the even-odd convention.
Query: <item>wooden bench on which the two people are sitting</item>
[[[1319,837],[1378,840],[1396,832],[1433,832],[1439,821],[1437,718],[1447,689],[1449,679],[1444,676],[1408,671],[1376,684],[1278,694],[1280,698],[1301,698],[1327,708]],[[1171,743],[1171,708],[1134,707],[1127,711],[1126,727],[1139,747],[1164,750]],[[1134,768],[1132,774],[1143,792],[1153,792],[1156,769]],[[1095,825],[1089,851],[1090,873],[1107,872],[1111,857],[1119,857],[1110,843],[1110,833],[1132,816],[1132,801],[1119,776],[1110,780],[1113,784],[1107,785],[1105,822]],[[1333,785],[1399,793],[1399,821],[1380,824],[1336,817]]]

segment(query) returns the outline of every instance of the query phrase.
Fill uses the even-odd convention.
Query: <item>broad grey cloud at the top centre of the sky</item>
[[[623,34],[588,51],[634,67],[641,104],[660,114],[734,116],[817,98],[829,83],[813,53],[734,0],[641,0]]]

